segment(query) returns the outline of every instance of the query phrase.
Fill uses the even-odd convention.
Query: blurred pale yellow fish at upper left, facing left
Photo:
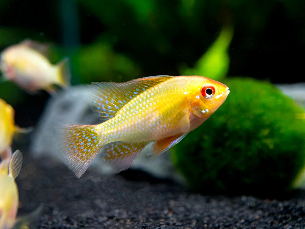
[[[68,59],[52,65],[41,53],[42,46],[26,40],[3,50],[0,68],[4,77],[30,93],[41,89],[54,93],[54,85],[67,87],[70,80]]]

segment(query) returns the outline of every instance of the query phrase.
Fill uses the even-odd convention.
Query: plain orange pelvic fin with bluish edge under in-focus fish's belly
[[[164,151],[170,149],[170,147],[180,142],[185,137],[185,135],[186,133],[181,133],[156,141],[152,145],[152,158],[155,158],[162,154]]]

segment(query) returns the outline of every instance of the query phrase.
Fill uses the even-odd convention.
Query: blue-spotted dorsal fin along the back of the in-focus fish
[[[158,75],[133,79],[125,83],[92,83],[95,111],[103,119],[112,118],[134,97],[174,76]]]

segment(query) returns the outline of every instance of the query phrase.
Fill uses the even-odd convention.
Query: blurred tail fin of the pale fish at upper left
[[[57,82],[56,84],[62,87],[68,87],[70,85],[71,75],[70,75],[70,61],[69,58],[66,57],[58,64],[56,64],[58,69],[57,71]]]

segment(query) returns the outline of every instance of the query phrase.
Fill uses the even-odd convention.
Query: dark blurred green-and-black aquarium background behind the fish
[[[72,85],[124,82],[181,75],[230,26],[228,76],[303,82],[304,10],[304,1],[290,0],[1,0],[0,50],[27,38],[46,42],[53,64],[70,58]],[[24,126],[36,123],[48,94],[2,82],[0,97]]]

